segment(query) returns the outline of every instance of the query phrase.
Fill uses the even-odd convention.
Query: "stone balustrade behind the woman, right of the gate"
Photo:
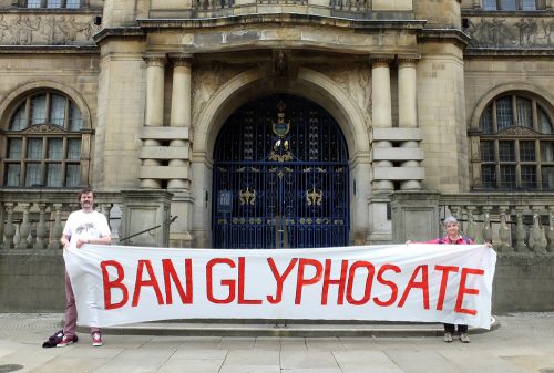
[[[443,194],[439,208],[461,220],[464,235],[492,242],[497,252],[554,252],[553,194]]]

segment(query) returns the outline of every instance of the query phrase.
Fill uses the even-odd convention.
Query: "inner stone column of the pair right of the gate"
[[[371,60],[371,92],[372,94],[372,123],[373,127],[392,127],[392,101],[390,93],[390,68],[392,58],[379,56]],[[373,147],[392,147],[389,141],[373,142]],[[392,167],[390,160],[379,160],[373,163],[373,167]],[[394,185],[391,180],[375,180],[375,191],[393,190]]]

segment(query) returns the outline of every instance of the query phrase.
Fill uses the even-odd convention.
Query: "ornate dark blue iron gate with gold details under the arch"
[[[244,105],[214,152],[216,248],[348,245],[348,151],[317,104],[274,94]]]

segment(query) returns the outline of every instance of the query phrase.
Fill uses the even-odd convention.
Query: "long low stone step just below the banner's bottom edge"
[[[493,318],[491,330],[499,328]],[[86,332],[86,328],[80,328]],[[183,336],[440,336],[441,323],[359,322],[328,320],[171,320],[141,322],[102,329],[117,335],[183,335]],[[470,334],[488,332],[470,328]]]

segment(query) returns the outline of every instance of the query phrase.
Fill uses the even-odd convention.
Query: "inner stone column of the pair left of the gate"
[[[192,56],[188,54],[171,54],[173,62],[173,91],[171,107],[171,126],[191,128],[192,118]],[[191,132],[183,132],[189,134]],[[174,138],[170,142],[172,158],[168,166],[175,169],[174,178],[167,182],[167,189],[173,195],[171,214],[177,219],[171,225],[172,247],[191,247],[193,198],[191,197],[191,139],[189,136]]]

